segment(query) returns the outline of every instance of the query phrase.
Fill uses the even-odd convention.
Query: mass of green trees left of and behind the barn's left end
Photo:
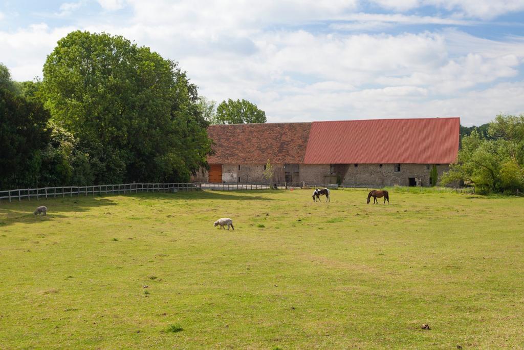
[[[0,188],[187,182],[211,152],[215,117],[202,101],[177,62],[122,36],[73,31],[41,80],[13,81],[0,65]],[[232,102],[221,123],[266,121]]]

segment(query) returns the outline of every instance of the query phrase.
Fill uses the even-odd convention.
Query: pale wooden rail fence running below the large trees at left
[[[169,183],[169,184],[121,184],[121,185],[96,185],[96,186],[61,186],[42,188],[18,188],[0,191],[2,200],[22,200],[22,198],[56,198],[88,196],[95,194],[131,194],[144,192],[176,192],[201,189],[200,183]]]

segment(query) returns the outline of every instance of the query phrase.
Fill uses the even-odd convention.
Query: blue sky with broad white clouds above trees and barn
[[[524,113],[524,0],[4,0],[0,62],[41,78],[77,29],[148,46],[268,122]]]

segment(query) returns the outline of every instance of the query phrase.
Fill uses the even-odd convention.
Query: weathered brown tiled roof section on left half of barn
[[[210,125],[209,164],[303,163],[311,123]]]

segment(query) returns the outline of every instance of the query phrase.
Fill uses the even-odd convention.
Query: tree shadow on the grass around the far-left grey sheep
[[[35,208],[41,205],[48,207],[47,215],[34,215]],[[114,200],[104,197],[65,197],[42,200],[23,200],[0,205],[0,230],[16,222],[36,224],[41,221],[65,218],[60,213],[88,211],[92,207],[117,205]]]

